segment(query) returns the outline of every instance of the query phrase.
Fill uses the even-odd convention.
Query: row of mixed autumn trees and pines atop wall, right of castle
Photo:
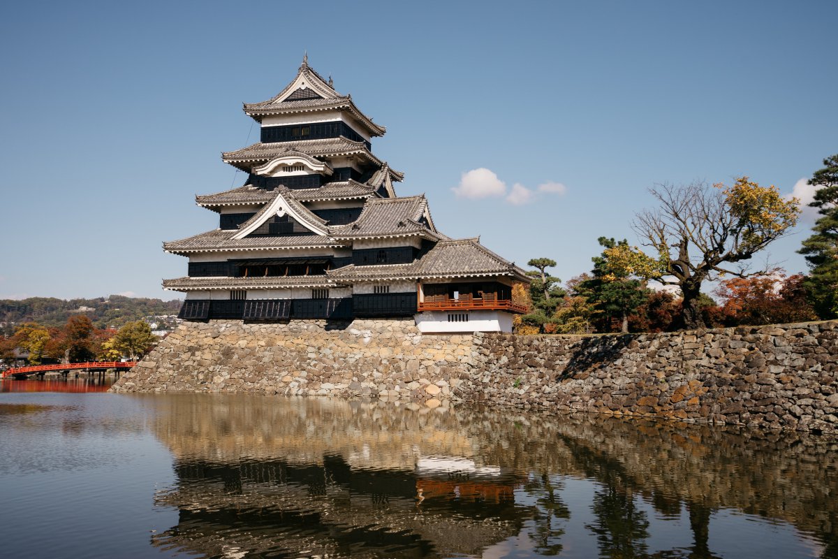
[[[603,251],[592,258],[592,270],[565,286],[548,271],[556,261],[530,260],[529,290],[513,289],[530,313],[515,318],[515,329],[660,332],[838,318],[838,155],[826,158],[809,184],[819,217],[798,251],[808,274],[751,266],[754,255],[797,223],[798,199],[747,177],[731,186],[664,184],[650,189],[659,205],[632,224],[642,248],[600,237]],[[702,291],[710,282],[716,299]]]

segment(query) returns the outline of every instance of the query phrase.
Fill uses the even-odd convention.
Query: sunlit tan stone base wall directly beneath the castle
[[[447,406],[473,336],[420,334],[413,318],[185,323],[111,390],[376,396]]]

